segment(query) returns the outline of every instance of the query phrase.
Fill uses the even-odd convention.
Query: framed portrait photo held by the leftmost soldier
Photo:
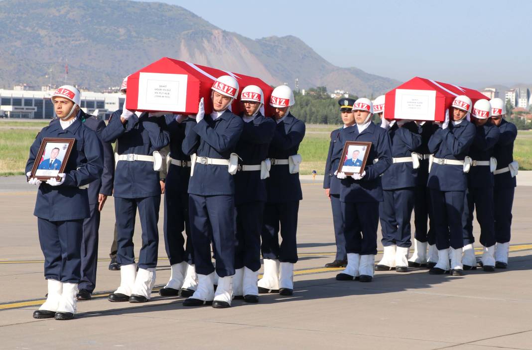
[[[64,172],[74,141],[75,138],[44,138],[35,157],[34,166],[31,168],[30,178],[61,180],[57,175]]]

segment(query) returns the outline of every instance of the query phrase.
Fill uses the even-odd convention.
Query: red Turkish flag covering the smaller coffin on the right
[[[473,104],[489,99],[477,90],[415,77],[386,93],[384,118],[442,122],[445,110],[459,95],[468,96]]]

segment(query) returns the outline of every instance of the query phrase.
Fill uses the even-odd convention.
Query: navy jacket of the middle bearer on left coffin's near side
[[[244,165],[259,165],[268,157],[268,148],[277,124],[260,112],[255,119],[244,122],[244,130],[235,152]],[[266,184],[259,171],[238,171],[235,174],[235,205],[266,202]]]

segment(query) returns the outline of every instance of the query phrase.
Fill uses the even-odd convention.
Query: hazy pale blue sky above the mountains
[[[532,83],[532,1],[159,1],[250,38],[294,35],[335,65],[398,80]]]

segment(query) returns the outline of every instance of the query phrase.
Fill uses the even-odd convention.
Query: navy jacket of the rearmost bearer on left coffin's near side
[[[303,137],[305,137],[305,123],[288,112],[285,119],[277,123],[268,149],[268,157],[288,159],[288,156],[297,154]],[[266,192],[269,203],[303,199],[299,174],[290,174],[288,165],[271,166],[270,177],[266,179]]]

